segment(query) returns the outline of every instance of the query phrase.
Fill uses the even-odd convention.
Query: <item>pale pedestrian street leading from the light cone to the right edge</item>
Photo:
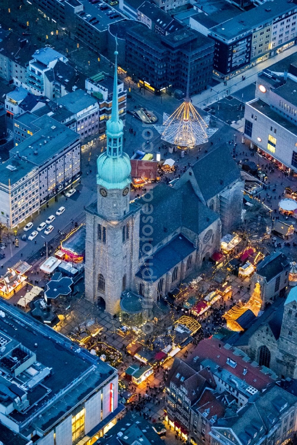
[[[256,66],[253,66],[244,73],[245,75],[244,81],[241,80],[242,79],[241,75],[234,76],[229,81],[227,81],[227,86],[224,85],[224,82],[221,82],[219,83],[219,85],[215,85],[215,87],[212,87],[211,88],[212,91],[210,91],[210,89],[207,89],[203,91],[201,94],[196,94],[195,96],[192,96],[191,99],[193,105],[198,106],[199,108],[205,108],[207,105],[211,105],[215,101],[219,101],[219,99],[221,99],[222,97],[232,95],[232,93],[234,93],[235,91],[238,91],[239,89],[242,89],[247,85],[256,82],[257,74],[260,71],[263,71],[265,68],[268,68],[269,66],[274,65],[276,62],[285,59],[286,57],[290,56],[296,51],[297,51],[296,46],[293,46],[292,48],[287,49],[283,53],[277,54],[277,56],[272,57],[271,59],[268,59]]]

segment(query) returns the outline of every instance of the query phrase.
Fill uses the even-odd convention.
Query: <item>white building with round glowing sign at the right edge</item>
[[[278,69],[280,71],[275,71]],[[256,98],[244,110],[244,134],[283,174],[297,175],[296,69],[265,69],[258,75]]]

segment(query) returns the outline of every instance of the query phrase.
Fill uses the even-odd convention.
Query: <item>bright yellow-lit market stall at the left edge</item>
[[[0,295],[9,299],[26,284],[28,278],[25,273],[30,269],[25,261],[19,261],[12,267],[8,267],[6,274],[0,279]]]

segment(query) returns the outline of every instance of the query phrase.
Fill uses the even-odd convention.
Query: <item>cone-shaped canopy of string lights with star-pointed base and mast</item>
[[[190,67],[188,72],[187,92],[185,101],[174,111],[171,116],[163,114],[163,125],[154,125],[161,139],[182,150],[208,142],[218,129],[210,128],[210,117],[204,119],[191,104],[190,94]]]

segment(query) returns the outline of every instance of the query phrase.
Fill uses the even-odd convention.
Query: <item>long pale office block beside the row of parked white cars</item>
[[[10,228],[78,180],[81,156],[79,135],[47,115],[21,114],[14,129],[15,147],[0,165],[0,218]]]

